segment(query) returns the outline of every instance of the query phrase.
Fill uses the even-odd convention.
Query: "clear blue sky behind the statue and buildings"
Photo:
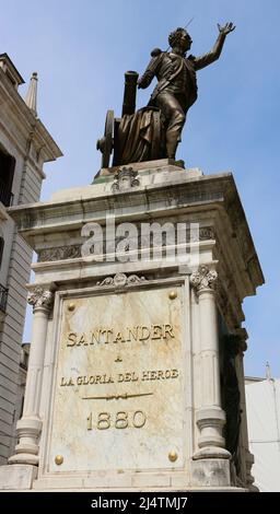
[[[267,281],[244,302],[246,373],[264,375],[269,361],[279,376],[279,0],[0,0],[0,52],[25,79],[21,94],[38,72],[38,115],[65,154],[45,167],[44,200],[98,171],[95,141],[107,108],[120,115],[126,70],[142,72],[192,16],[194,55],[211,48],[218,22],[236,24],[220,60],[198,73],[177,156],[206,174],[234,173]],[[139,107],[150,93],[138,93]]]

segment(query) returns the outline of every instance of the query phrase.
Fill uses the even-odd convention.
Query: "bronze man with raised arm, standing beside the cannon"
[[[168,37],[171,51],[153,50],[144,74],[138,80],[138,87],[142,89],[148,87],[154,77],[159,81],[149,105],[161,109],[168,159],[175,159],[186,114],[197,100],[197,70],[219,59],[226,35],[235,28],[232,23],[218,24],[218,27],[219,36],[212,50],[200,57],[186,57],[192,40],[185,28],[178,27]]]

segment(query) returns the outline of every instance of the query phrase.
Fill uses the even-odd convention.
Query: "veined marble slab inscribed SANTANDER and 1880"
[[[182,339],[179,287],[63,301],[50,472],[183,467]]]

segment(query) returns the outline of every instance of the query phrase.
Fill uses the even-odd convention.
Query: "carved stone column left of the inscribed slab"
[[[33,331],[23,416],[18,421],[16,432],[20,437],[15,454],[9,464],[38,464],[38,436],[42,430],[39,404],[44,369],[47,325],[52,307],[54,294],[40,287],[35,288],[27,297],[33,305]]]

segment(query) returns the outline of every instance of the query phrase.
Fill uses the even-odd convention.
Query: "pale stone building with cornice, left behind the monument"
[[[7,54],[0,55],[0,465],[13,451],[22,335],[32,249],[19,237],[8,208],[38,201],[45,162],[61,151],[36,113],[37,75],[26,101],[23,79]]]

